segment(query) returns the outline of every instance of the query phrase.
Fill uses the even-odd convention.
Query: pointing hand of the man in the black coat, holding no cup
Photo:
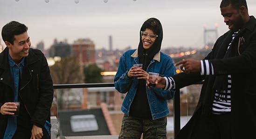
[[[194,59],[183,59],[178,63],[175,63],[175,66],[180,65],[180,69],[189,74],[190,72],[201,72],[201,62],[199,60]]]

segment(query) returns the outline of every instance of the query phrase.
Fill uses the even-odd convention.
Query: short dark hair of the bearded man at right
[[[221,8],[229,6],[231,4],[231,6],[235,9],[239,9],[241,6],[245,6],[246,9],[248,10],[248,6],[246,3],[246,0],[222,0],[221,1]]]

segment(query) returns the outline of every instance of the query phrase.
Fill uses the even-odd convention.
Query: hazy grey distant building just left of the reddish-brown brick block
[[[55,42],[55,44],[50,47],[48,54],[49,57],[69,57],[71,55],[71,45]]]

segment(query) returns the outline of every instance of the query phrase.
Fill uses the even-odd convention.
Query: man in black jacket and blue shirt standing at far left
[[[27,30],[16,21],[2,28],[7,47],[0,53],[0,139],[50,139],[53,83],[46,58],[30,48]]]

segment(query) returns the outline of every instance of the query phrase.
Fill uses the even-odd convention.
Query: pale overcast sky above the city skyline
[[[46,0],[47,1],[47,0]],[[43,41],[48,48],[54,38],[90,38],[96,49],[127,46],[137,48],[139,30],[151,17],[163,25],[162,48],[203,47],[203,24],[219,36],[228,31],[220,12],[221,0],[0,0],[0,30],[16,20],[28,26],[33,47]],[[247,0],[249,14],[256,15],[256,0]],[[3,41],[1,41],[3,44]]]

